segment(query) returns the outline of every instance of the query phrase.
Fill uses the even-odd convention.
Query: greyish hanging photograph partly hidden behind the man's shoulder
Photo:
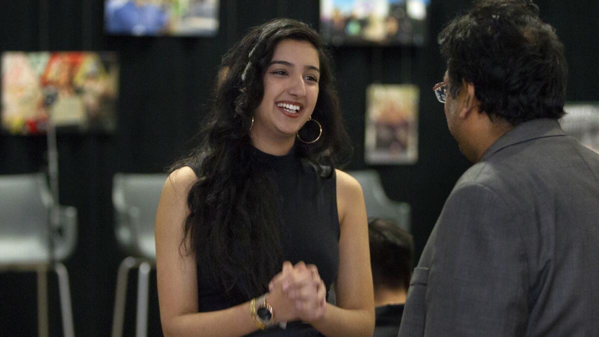
[[[564,132],[599,154],[599,103],[568,103],[564,110]]]

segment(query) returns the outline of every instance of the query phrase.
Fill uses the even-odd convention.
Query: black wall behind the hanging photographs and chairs
[[[418,254],[453,184],[470,165],[447,131],[443,106],[431,92],[444,72],[435,35],[469,1],[431,1],[424,47],[337,47],[332,50],[344,118],[355,148],[346,169],[374,168],[389,197],[412,205]],[[557,29],[570,64],[568,100],[599,100],[597,1],[566,5],[537,1]],[[113,234],[111,179],[115,172],[164,171],[195,144],[207,111],[220,56],[247,29],[273,17],[318,26],[317,0],[223,0],[214,38],[112,37],[103,29],[102,0],[0,2],[0,52],[6,50],[116,50],[120,55],[119,124],[114,134],[58,135],[60,203],[77,207],[78,247],[66,261],[71,276],[75,332],[110,333],[116,270],[125,255]],[[411,166],[364,163],[365,89],[373,82],[420,87],[419,160]],[[348,145],[349,146],[349,145]],[[43,136],[0,134],[0,174],[47,170]],[[1,192],[1,191],[0,191]],[[134,286],[130,282],[130,286]],[[50,334],[60,335],[56,280],[50,278]],[[156,295],[150,335],[160,335]],[[125,335],[133,333],[129,297]],[[35,275],[0,274],[0,333],[35,335]]]

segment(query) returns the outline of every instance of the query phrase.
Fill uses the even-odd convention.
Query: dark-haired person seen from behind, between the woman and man
[[[368,222],[376,323],[374,336],[396,337],[412,275],[412,235],[386,219]]]

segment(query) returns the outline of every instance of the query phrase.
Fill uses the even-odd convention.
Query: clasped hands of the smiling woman
[[[314,264],[285,261],[283,269],[268,284],[267,301],[277,322],[301,320],[310,323],[326,312],[326,287]]]

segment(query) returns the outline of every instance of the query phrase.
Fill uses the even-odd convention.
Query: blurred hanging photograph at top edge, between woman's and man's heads
[[[320,0],[320,33],[335,46],[422,46],[429,4],[430,0]]]

